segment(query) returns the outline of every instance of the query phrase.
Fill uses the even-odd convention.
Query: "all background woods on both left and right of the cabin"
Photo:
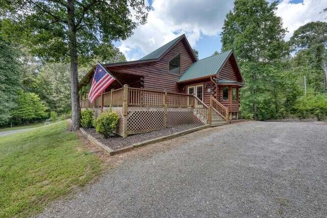
[[[264,0],[236,0],[225,18],[222,50],[233,49],[245,80],[240,117],[323,120],[327,117],[327,23],[309,22],[286,42],[287,30],[275,14],[276,6]],[[35,55],[26,39],[11,37],[14,27],[12,20],[1,16],[0,127],[44,120],[51,111],[69,114],[69,62]],[[102,50],[105,57],[94,55],[80,62],[79,79],[99,60],[126,60],[112,43]]]

